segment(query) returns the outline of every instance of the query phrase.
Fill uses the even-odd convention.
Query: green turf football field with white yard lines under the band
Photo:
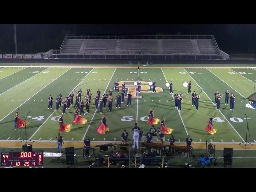
[[[47,67],[46,67],[47,66]],[[104,66],[102,64],[102,66]],[[88,121],[84,125],[72,123],[74,119],[74,104],[64,114],[64,123],[72,123],[70,132],[63,132],[66,141],[81,141],[89,136],[91,141],[120,141],[121,134],[126,129],[132,139],[132,126],[138,122],[138,126],[144,131],[149,131],[151,126],[147,124],[148,112],[154,107],[154,118],[161,119],[167,116],[166,126],[174,129],[172,135],[176,141],[185,141],[189,134],[195,142],[223,142],[236,143],[246,139],[246,116],[250,130],[249,142],[256,142],[256,110],[249,108],[248,96],[255,92],[256,67],[225,66],[225,67],[150,67],[141,66],[139,77],[141,79],[141,92],[138,93],[134,80],[138,78],[137,66],[30,66],[22,64],[5,66],[0,68],[0,140],[23,140],[24,130],[14,130],[14,114],[19,110],[21,119],[28,117],[29,122],[26,131],[27,139],[52,141],[56,140],[59,130],[58,116],[62,112],[55,111],[55,99],[59,92],[65,98],[70,92],[76,96],[78,89],[82,90],[82,99],[86,96],[86,90],[90,87],[92,102],[90,114],[83,115]],[[152,93],[152,87],[148,85],[150,80],[156,80],[156,94]],[[183,93],[182,110],[178,112],[174,108],[174,98],[166,81],[172,80],[173,92]],[[112,111],[108,111],[108,103],[103,108],[107,115],[109,132],[98,134],[96,128],[101,122],[102,114],[95,109],[94,96],[98,89],[101,97],[110,88],[114,89],[114,82],[126,84],[127,92],[132,92],[132,106],[127,107],[127,98],[121,108],[116,108],[116,93],[113,91]],[[192,106],[192,96],[188,88],[183,86],[184,81],[191,81],[191,91],[200,94],[198,112]],[[120,86],[121,87],[121,86]],[[120,88],[121,90],[121,88]],[[218,90],[223,95],[220,111],[216,110],[214,93]],[[230,111],[230,105],[224,105],[225,92],[230,90],[236,97],[234,111]],[[121,93],[121,91],[120,91]],[[48,97],[54,98],[52,110],[47,109]],[[75,98],[74,98],[75,102]],[[247,105],[246,105],[247,104]],[[84,108],[85,111],[85,108]],[[209,115],[214,116],[213,126],[216,134],[210,135],[205,131],[208,125]],[[155,125],[160,127],[160,123]],[[165,136],[165,140],[170,135]]]

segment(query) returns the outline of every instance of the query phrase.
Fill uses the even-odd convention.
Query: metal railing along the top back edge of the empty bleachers
[[[66,35],[64,40],[66,40],[66,38],[67,39],[214,39],[214,36],[213,35]]]

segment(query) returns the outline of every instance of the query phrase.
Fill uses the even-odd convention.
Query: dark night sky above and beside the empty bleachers
[[[74,24],[17,24],[18,52],[59,49]],[[256,52],[256,24],[76,24],[76,34],[211,35],[224,52]],[[0,52],[15,52],[14,25],[0,24]]]

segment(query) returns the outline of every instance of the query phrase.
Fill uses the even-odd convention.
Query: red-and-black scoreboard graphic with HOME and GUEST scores
[[[43,166],[44,152],[1,152],[1,166]]]

